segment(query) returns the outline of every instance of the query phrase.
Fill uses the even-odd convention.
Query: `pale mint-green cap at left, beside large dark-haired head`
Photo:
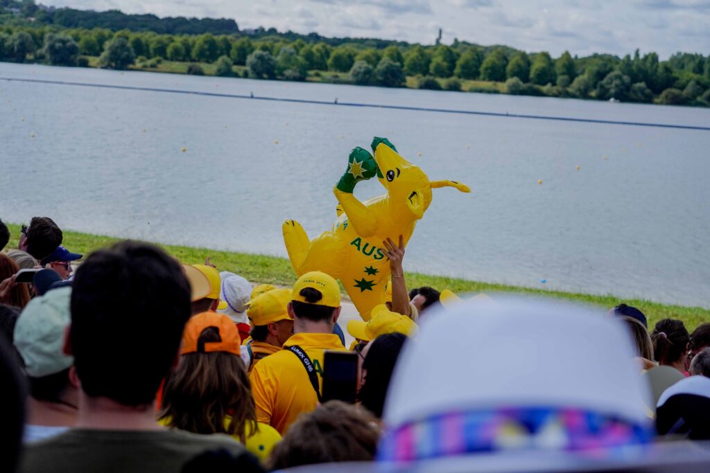
[[[28,376],[49,376],[74,363],[74,357],[63,350],[65,331],[71,319],[71,294],[70,287],[62,287],[35,297],[17,319],[14,344],[25,362]]]

